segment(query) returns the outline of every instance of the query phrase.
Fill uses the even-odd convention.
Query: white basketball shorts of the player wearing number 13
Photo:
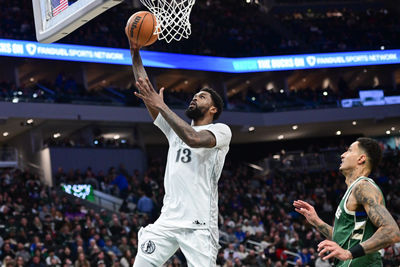
[[[218,248],[207,229],[166,228],[149,224],[138,233],[138,255],[155,266],[162,266],[181,249],[188,267],[215,267]]]

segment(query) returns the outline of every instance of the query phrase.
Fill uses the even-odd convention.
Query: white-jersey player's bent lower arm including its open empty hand
[[[163,101],[162,90],[157,94],[149,79],[139,78],[136,85],[140,89],[135,95],[143,100],[150,109],[160,112],[174,132],[190,147],[214,147],[217,143],[210,131],[195,131],[187,122],[176,115]],[[161,95],[161,97],[160,97]],[[149,110],[150,110],[149,109]],[[158,113],[157,113],[158,114]]]

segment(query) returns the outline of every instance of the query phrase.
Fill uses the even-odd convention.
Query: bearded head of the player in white
[[[217,120],[221,115],[224,103],[221,96],[211,88],[203,88],[193,96],[186,115],[192,120],[198,120],[204,116],[210,116],[212,120]]]

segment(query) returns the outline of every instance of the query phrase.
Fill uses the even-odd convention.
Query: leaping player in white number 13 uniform
[[[194,95],[186,115],[189,125],[163,101],[143,67],[139,49],[131,49],[139,92],[154,124],[169,143],[161,215],[138,233],[134,267],[162,266],[181,249],[190,267],[216,266],[218,253],[218,180],[232,137],[229,127],[213,124],[223,102],[214,90]]]

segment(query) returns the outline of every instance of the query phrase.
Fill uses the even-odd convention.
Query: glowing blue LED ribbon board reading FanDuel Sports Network
[[[249,73],[399,64],[400,50],[224,58],[141,51],[146,67]],[[0,39],[0,56],[131,65],[128,49]]]

